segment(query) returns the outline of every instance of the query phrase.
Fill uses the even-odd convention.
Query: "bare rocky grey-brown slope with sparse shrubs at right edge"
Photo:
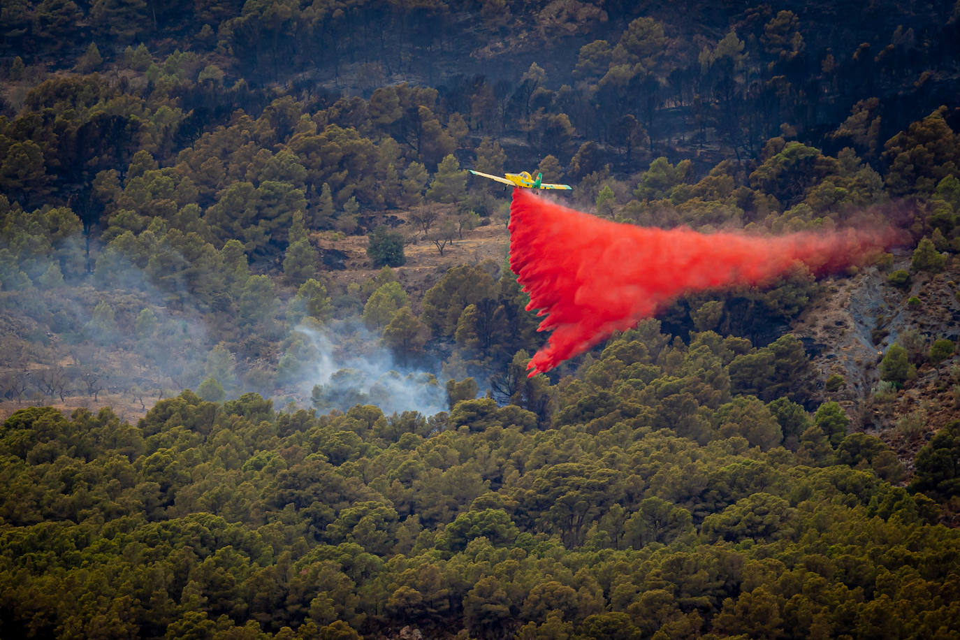
[[[954,258],[942,273],[912,272],[907,286],[890,282],[890,273],[909,269],[909,254],[900,252],[888,268],[831,278],[793,327],[820,379],[842,378],[821,396],[838,401],[855,428],[894,445],[904,462],[960,413],[960,355],[936,363],[928,358],[935,340],[960,337],[960,261]],[[907,346],[916,367],[901,389],[880,380],[880,362],[892,344]]]

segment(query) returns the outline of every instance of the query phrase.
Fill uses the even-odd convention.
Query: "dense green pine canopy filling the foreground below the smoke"
[[[450,424],[466,428],[433,435],[372,406],[277,415],[255,394],[218,407],[184,391],[138,428],[108,410],[16,412],[0,427],[5,626],[89,626],[141,591],[152,595],[115,623],[128,632],[319,637],[383,620],[493,635],[514,625],[522,637],[564,625],[639,637],[653,624],[762,635],[780,625],[771,599],[836,606],[810,580],[847,594],[856,617],[886,602],[895,571],[910,576],[909,615],[949,599],[957,536],[927,524],[928,499],[874,473],[798,465],[739,437],[700,446],[649,429],[509,426],[515,409],[463,400]],[[954,432],[918,455],[912,489],[951,495]],[[837,455],[882,477],[890,453],[853,434]],[[122,580],[91,583],[96,566]],[[91,589],[104,600],[83,601]],[[75,597],[85,604],[56,604]],[[694,603],[709,614],[695,623],[683,611]]]

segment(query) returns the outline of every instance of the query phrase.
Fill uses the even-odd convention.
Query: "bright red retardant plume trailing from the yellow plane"
[[[799,261],[814,274],[889,247],[892,230],[818,231],[762,237],[664,230],[602,220],[514,189],[510,268],[539,331],[551,331],[527,368],[536,375],[588,350],[684,294],[766,284]]]

